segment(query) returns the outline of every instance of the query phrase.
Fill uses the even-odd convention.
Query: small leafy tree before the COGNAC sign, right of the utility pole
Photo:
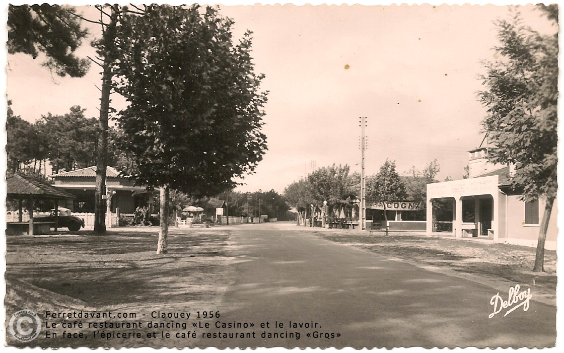
[[[366,180],[366,201],[384,204],[384,219],[388,222],[386,202],[403,200],[407,197],[406,186],[395,170],[395,162],[386,160],[376,175]]]

